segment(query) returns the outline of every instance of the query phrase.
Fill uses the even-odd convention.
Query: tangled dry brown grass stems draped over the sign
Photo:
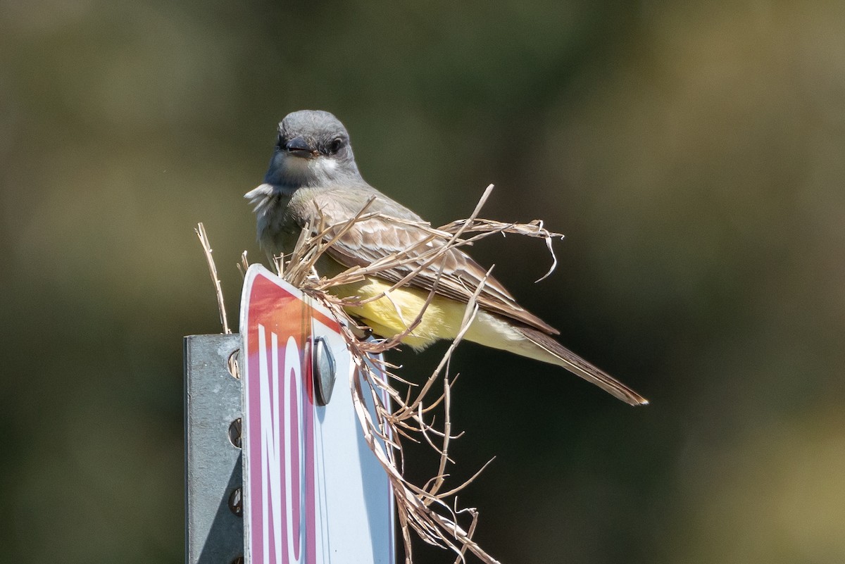
[[[474,295],[466,304],[461,331],[458,336],[450,344],[431,375],[422,384],[407,382],[399,377],[396,374],[398,367],[384,361],[381,354],[386,350],[398,347],[401,340],[413,332],[422,320],[425,309],[423,308],[417,319],[408,323],[404,332],[395,335],[395,337],[390,339],[359,339],[357,334],[360,334],[360,332],[356,331],[358,328],[357,322],[346,314],[344,306],[361,306],[366,301],[356,298],[341,299],[335,297],[332,295],[331,289],[337,285],[360,281],[366,276],[378,276],[380,272],[385,270],[400,268],[407,271],[408,274],[396,282],[390,290],[385,290],[381,296],[370,298],[370,301],[384,296],[390,299],[390,291],[401,285],[406,285],[408,280],[421,272],[423,268],[438,264],[439,258],[442,258],[444,253],[449,252],[451,248],[472,245],[475,241],[497,233],[513,233],[544,240],[553,259],[552,267],[546,274],[548,276],[556,265],[552,252],[552,239],[562,237],[562,235],[546,230],[540,220],[519,224],[479,219],[477,216],[492,189],[493,185],[487,187],[477,203],[476,209],[468,219],[453,221],[439,228],[433,228],[423,223],[413,223],[418,228],[425,230],[428,236],[401,252],[392,253],[366,266],[349,268],[332,278],[321,277],[315,265],[333,241],[350,230],[353,225],[360,221],[373,219],[404,224],[410,222],[381,214],[368,213],[368,208],[372,203],[372,200],[370,200],[355,217],[340,225],[322,225],[322,223],[321,225],[306,225],[293,252],[289,256],[277,258],[275,264],[282,279],[322,302],[339,320],[345,322],[341,323],[341,327],[346,345],[352,354],[352,359],[359,373],[363,375],[363,378],[352,377],[350,382],[353,403],[363,435],[384,468],[395,494],[399,523],[405,541],[406,564],[412,564],[412,529],[425,542],[453,550],[457,556],[455,563],[466,561],[467,552],[469,552],[477,556],[482,562],[498,564],[493,556],[488,555],[481,546],[472,540],[477,525],[477,510],[472,507],[459,508],[457,505],[457,494],[471,483],[484,467],[479,469],[472,478],[459,485],[447,485],[447,479],[450,475],[448,467],[450,464],[455,464],[449,456],[450,442],[460,436],[460,434],[455,434],[452,431],[450,420],[451,393],[455,377],[449,375],[449,363],[455,347],[461,342],[463,334],[477,314],[476,298],[480,294],[483,284],[478,285]],[[205,236],[202,225],[199,225],[198,235],[200,241],[203,241],[206,257],[209,259],[211,276],[215,280],[218,303],[221,306],[221,322],[224,325],[224,331],[228,331],[226,314],[222,308],[220,286],[217,282],[213,261],[210,258],[208,238]],[[431,244],[433,241],[439,241],[439,243]],[[246,253],[242,257],[240,266],[245,272],[248,267]],[[488,271],[487,275],[489,274]],[[437,285],[435,284],[433,290],[429,293],[427,305],[432,301],[436,290]],[[362,381],[365,382],[364,385],[362,385]],[[429,392],[436,388],[442,389],[442,393],[436,394],[435,399],[428,400],[431,395]],[[390,398],[389,403],[383,401],[385,395]],[[376,405],[374,416],[366,407],[367,396]],[[433,410],[438,408],[442,409],[442,413],[444,413],[442,422],[436,422],[433,417]],[[437,473],[422,485],[414,484],[405,477],[404,441],[424,442],[433,449],[435,455],[439,458]]]

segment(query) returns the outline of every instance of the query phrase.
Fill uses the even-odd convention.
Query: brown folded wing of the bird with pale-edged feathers
[[[369,188],[369,187],[368,187]],[[351,193],[352,192],[352,193]],[[341,225],[351,220],[363,208],[367,202],[366,195],[375,195],[377,199],[367,209],[367,213],[380,213],[395,217],[406,222],[422,220],[411,210],[406,209],[390,198],[384,197],[373,188],[363,193],[357,191],[323,191],[313,195],[310,212],[308,208],[300,209],[297,214],[301,220],[308,220],[311,225],[319,222],[322,216],[324,225]],[[303,221],[304,224],[304,221]],[[409,255],[419,257],[407,266],[389,268],[375,274],[379,278],[390,282],[398,282],[407,274],[426,263],[428,258],[424,253],[430,252],[434,247],[442,247],[444,241],[436,239],[430,244],[419,244],[429,236],[429,232],[422,226],[412,223],[396,223],[385,221],[381,218],[358,221],[352,228],[342,234],[329,248],[328,253],[338,263],[346,267],[365,266],[381,258],[389,257],[395,252],[406,252],[414,247]],[[465,252],[457,248],[450,248],[448,251],[439,254],[439,257],[430,261],[418,274],[407,282],[407,285],[417,287],[421,290],[431,291],[437,280],[436,293],[439,296],[451,298],[455,301],[466,303],[481,284],[487,270],[482,268]],[[439,280],[438,280],[439,276]],[[548,323],[545,323],[523,307],[516,303],[508,290],[492,276],[488,276],[477,297],[477,304],[482,309],[498,313],[504,317],[510,317],[518,322],[537,328],[547,334],[559,334],[559,331]]]

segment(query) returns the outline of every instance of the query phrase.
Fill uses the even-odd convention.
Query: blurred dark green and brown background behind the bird
[[[845,3],[765,0],[0,3],[0,561],[183,561],[193,228],[237,318],[242,196],[302,108],[435,224],[493,182],[484,215],[564,232],[539,285],[542,243],[474,254],[651,399],[462,345],[493,556],[845,561]]]

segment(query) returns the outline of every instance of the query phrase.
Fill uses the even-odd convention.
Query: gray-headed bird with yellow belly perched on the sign
[[[244,197],[254,206],[259,245],[271,259],[292,252],[306,225],[318,225],[321,220],[323,225],[340,225],[369,203],[367,213],[378,216],[368,215],[354,223],[330,244],[317,263],[321,276],[367,266],[415,243],[410,256],[417,257],[426,251],[426,244],[420,241],[430,241],[423,218],[364,181],[346,127],[328,111],[293,111],[282,119],[264,182]],[[428,250],[432,244],[442,241],[428,243]],[[477,315],[464,339],[562,366],[628,404],[648,403],[559,344],[553,339],[559,334],[557,329],[520,306],[486,268],[460,248],[450,247],[404,285],[390,290],[425,260],[419,258],[416,264],[398,265],[359,282],[333,286],[330,292],[341,298],[359,298],[357,305],[346,306],[346,312],[373,334],[390,338],[406,332],[434,290],[420,323],[401,339],[414,350],[423,350],[439,339],[455,339],[466,304],[477,292]],[[385,290],[390,290],[390,296],[384,296]],[[376,296],[381,297],[366,301]]]

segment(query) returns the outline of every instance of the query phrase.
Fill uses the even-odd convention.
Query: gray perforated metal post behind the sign
[[[185,561],[243,562],[239,334],[185,337]]]

